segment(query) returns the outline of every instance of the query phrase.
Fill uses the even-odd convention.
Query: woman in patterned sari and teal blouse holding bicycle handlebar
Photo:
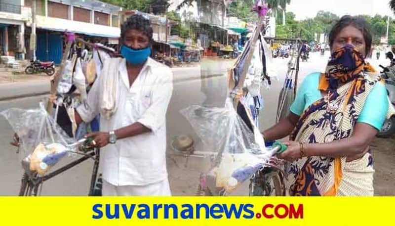
[[[278,155],[290,195],[373,195],[369,143],[389,111],[380,75],[364,61],[372,46],[366,21],[343,16],[329,33],[325,73],[303,81],[288,117],[263,132],[265,140],[290,135]]]

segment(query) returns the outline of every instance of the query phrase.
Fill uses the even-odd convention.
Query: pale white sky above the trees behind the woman
[[[388,6],[390,0],[291,0],[286,10],[295,13],[296,20],[314,18],[319,10],[342,15],[390,15],[395,14]]]

